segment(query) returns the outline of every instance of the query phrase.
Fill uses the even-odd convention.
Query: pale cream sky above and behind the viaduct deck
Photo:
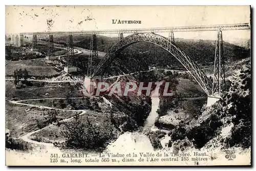
[[[112,24],[112,19],[141,24]],[[238,23],[250,23],[249,6],[6,6],[6,33]],[[217,32],[175,32],[175,37],[214,40]],[[241,38],[249,39],[250,30],[223,31],[224,41]]]

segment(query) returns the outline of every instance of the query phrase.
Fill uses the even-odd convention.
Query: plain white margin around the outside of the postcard
[[[2,130],[2,136],[4,136],[4,130],[5,130],[5,82],[4,82],[4,79],[5,79],[5,49],[4,49],[4,44],[5,44],[5,37],[4,37],[4,32],[5,32],[5,5],[251,5],[252,8],[255,7],[255,0],[243,0],[243,1],[238,1],[238,0],[232,0],[232,1],[223,1],[223,0],[215,0],[215,1],[203,1],[203,0],[193,0],[193,1],[184,1],[184,0],[178,0],[178,1],[141,1],[139,2],[138,0],[129,0],[129,1],[117,1],[117,0],[107,0],[107,1],[103,1],[103,0],[93,0],[93,1],[63,1],[63,0],[58,0],[58,1],[52,1],[52,0],[44,0],[44,1],[32,1],[32,0],[29,0],[29,1],[18,1],[18,0],[9,0],[8,2],[7,1],[1,1],[1,19],[2,19],[2,25],[1,25],[1,31],[2,31],[2,34],[1,34],[1,38],[2,38],[2,42],[1,42],[1,49],[2,49],[2,56],[0,58],[0,63],[2,65],[1,69],[2,69],[2,72],[1,72],[1,80],[3,81],[3,83],[1,84],[1,130]],[[39,3],[39,4],[38,4]],[[254,11],[254,10],[253,10]],[[253,13],[252,13],[253,14]],[[254,17],[252,16],[252,22],[255,22],[254,20]],[[253,23],[254,25],[254,23]],[[255,29],[252,28],[252,32],[254,33],[255,32]],[[251,38],[253,40],[253,38]],[[252,44],[253,47],[251,47],[251,49],[255,49],[255,44],[253,43]],[[251,58],[253,58],[253,56],[251,56]],[[252,66],[255,66],[255,62],[256,62],[256,59],[253,59],[253,63],[252,63]],[[255,79],[255,75],[253,74],[253,80]],[[256,87],[256,84],[254,84],[253,88]],[[255,90],[255,89],[254,89]],[[254,91],[253,91],[254,92]],[[252,96],[253,97],[253,96]],[[253,104],[252,106],[255,106],[255,101],[253,100]],[[253,113],[252,113],[253,115]],[[255,116],[253,117],[253,121],[252,123],[255,123]],[[253,126],[254,128],[254,126]],[[255,130],[253,129],[253,137],[255,137]],[[255,148],[255,141],[253,141],[253,147]],[[252,148],[252,149],[254,149]],[[1,141],[1,168],[2,170],[7,170],[7,169],[13,169],[13,168],[10,168],[10,167],[6,167],[5,166],[5,140],[4,138],[2,138],[2,141]],[[253,152],[252,152],[253,154]],[[252,158],[253,161],[252,163],[255,164],[255,157]],[[15,159],[14,159],[15,160]],[[95,169],[95,170],[99,170],[99,169],[106,169],[106,170],[112,170],[112,169],[117,169],[117,170],[120,170],[120,169],[123,169],[124,167],[106,167],[106,168],[103,168],[103,167],[98,167],[98,168],[95,168],[95,167],[77,167],[77,168],[74,168],[74,167],[47,167],[47,168],[44,168],[44,167],[32,167],[32,168],[28,168],[28,167],[19,167],[19,168],[16,168],[16,169],[20,169],[20,170],[37,170],[37,169],[40,169],[40,170],[48,170],[48,169],[54,169],[55,171],[57,170],[62,170],[62,169],[65,169],[65,170],[74,170],[74,169],[79,169],[79,170],[84,170],[84,169]],[[140,169],[159,169],[159,167],[139,167],[139,168],[134,168],[134,167],[130,167],[130,168],[126,168],[126,169],[133,169],[133,170],[140,170]],[[178,170],[178,169],[198,169],[198,167],[165,167],[165,168],[161,168],[161,169],[168,169],[168,170]],[[224,167],[224,168],[219,168],[219,167],[203,167],[203,168],[200,168],[200,169],[203,169],[203,170],[208,170],[208,169],[213,169],[213,170],[226,170],[226,169],[232,169],[232,170],[236,170],[236,169],[241,169],[241,167],[231,167],[231,168],[227,168],[227,167]]]

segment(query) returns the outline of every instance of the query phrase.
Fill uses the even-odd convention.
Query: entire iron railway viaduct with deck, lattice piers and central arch
[[[47,35],[48,51],[47,59],[57,60],[54,53],[54,35],[67,35],[67,55],[66,67],[64,71],[74,72],[75,67],[70,65],[73,60],[73,35],[91,34],[90,54],[88,60],[88,71],[86,81],[94,82],[98,78],[99,70],[109,66],[115,60],[116,54],[129,47],[130,45],[146,41],[158,45],[170,53],[170,57],[175,57],[183,67],[194,77],[200,87],[208,96],[207,105],[214,104],[221,99],[221,94],[225,91],[225,63],[223,56],[223,40],[222,31],[224,30],[249,30],[249,23],[229,24],[229,25],[207,25],[207,26],[185,26],[185,27],[161,27],[161,28],[143,28],[143,29],[117,29],[117,30],[89,30],[89,31],[51,31],[51,32],[23,32],[17,34],[6,34],[6,40],[10,40],[11,44],[15,46],[23,46],[24,36],[33,36],[31,50],[37,47],[37,35]],[[210,80],[206,74],[200,69],[195,61],[189,57],[189,52],[184,52],[175,44],[175,32],[192,32],[192,31],[216,31],[216,49],[214,57],[213,80]],[[157,33],[168,33],[168,37],[163,37]],[[124,37],[124,33],[129,33],[129,36]],[[106,53],[101,59],[98,66],[92,70],[92,59],[98,57],[97,51],[97,35],[99,34],[117,34],[117,43]],[[185,33],[184,33],[185,34]],[[90,92],[91,88],[88,88]]]

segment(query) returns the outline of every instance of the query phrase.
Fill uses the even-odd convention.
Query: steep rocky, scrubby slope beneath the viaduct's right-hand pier
[[[234,70],[223,99],[201,114],[181,123],[170,134],[176,145],[186,142],[196,148],[251,146],[251,68],[250,63]],[[193,135],[193,136],[191,136]],[[178,141],[181,140],[181,141]]]

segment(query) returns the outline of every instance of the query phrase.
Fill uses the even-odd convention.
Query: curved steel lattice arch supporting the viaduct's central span
[[[211,90],[212,83],[205,75],[205,73],[199,68],[197,63],[193,61],[181,48],[172,43],[170,39],[155,33],[135,33],[120,39],[117,44],[112,46],[111,49],[101,59],[99,65],[95,68],[92,77],[97,74],[99,69],[103,67],[104,63],[112,61],[115,58],[116,53],[139,41],[151,42],[152,44],[158,45],[168,51],[195,78],[204,92],[207,95],[210,94],[209,92]]]

